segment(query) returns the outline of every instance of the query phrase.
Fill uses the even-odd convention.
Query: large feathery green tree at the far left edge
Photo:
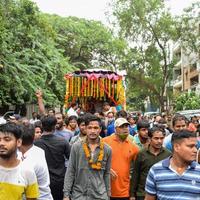
[[[63,104],[63,76],[71,65],[56,47],[51,26],[28,0],[3,0],[0,10],[0,105],[33,102],[37,88],[47,105]]]

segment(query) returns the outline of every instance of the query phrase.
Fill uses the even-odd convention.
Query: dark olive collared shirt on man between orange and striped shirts
[[[131,176],[132,196],[145,196],[145,182],[149,169],[157,162],[169,157],[171,152],[161,148],[158,155],[150,152],[149,147],[142,149],[135,160]]]

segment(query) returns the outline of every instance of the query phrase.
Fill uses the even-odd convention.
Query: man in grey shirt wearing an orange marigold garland
[[[85,121],[87,137],[73,144],[65,175],[64,200],[108,200],[111,149],[100,139],[101,120]]]

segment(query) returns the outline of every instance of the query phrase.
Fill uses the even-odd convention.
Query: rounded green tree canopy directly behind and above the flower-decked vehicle
[[[79,69],[101,66],[116,70],[121,65],[127,43],[114,37],[101,22],[57,15],[46,18],[56,31],[58,48]]]

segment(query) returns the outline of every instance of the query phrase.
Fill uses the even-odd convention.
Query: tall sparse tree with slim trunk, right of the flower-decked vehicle
[[[168,58],[168,42],[176,35],[176,23],[161,0],[118,0],[114,16],[119,34],[132,47],[132,62],[127,65],[131,91],[141,90],[164,111],[173,62]]]

